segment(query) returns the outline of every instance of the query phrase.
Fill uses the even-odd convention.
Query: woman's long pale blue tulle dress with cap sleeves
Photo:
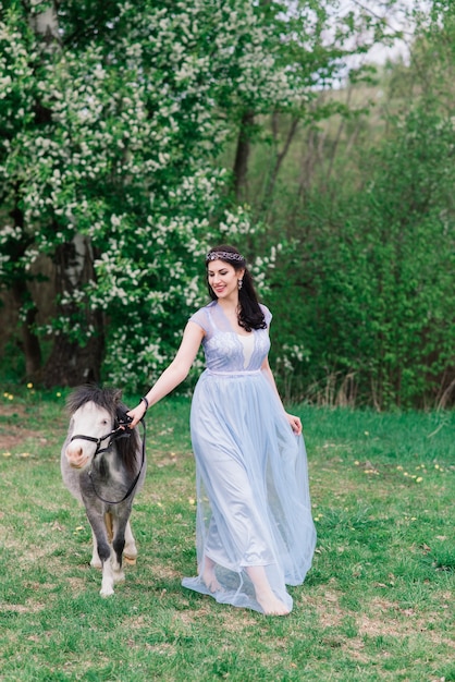
[[[269,326],[272,316],[261,307]],[[206,332],[207,368],[190,414],[199,575],[182,584],[219,602],[262,612],[245,570],[260,565],[291,610],[286,584],[305,580],[316,531],[304,439],[293,434],[260,368],[270,348],[268,330],[237,334],[216,301],[189,321]],[[206,556],[216,563],[216,592],[202,580]]]

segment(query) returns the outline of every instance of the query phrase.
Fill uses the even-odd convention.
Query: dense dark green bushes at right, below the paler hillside
[[[318,187],[307,195],[302,247],[271,275],[272,299],[286,299],[293,320],[278,325],[280,352],[294,339],[296,374],[321,402],[381,409],[450,399],[453,122],[416,107],[390,125],[390,138],[359,161],[360,191],[331,203]]]

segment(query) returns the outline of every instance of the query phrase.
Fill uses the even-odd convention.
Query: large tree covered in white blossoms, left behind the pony
[[[318,4],[294,3],[291,17],[286,3],[245,0],[3,3],[0,285],[21,302],[29,373],[44,331],[48,386],[99,379],[103,366],[134,389],[162,369],[204,299],[209,244],[258,230],[213,159],[233,132],[245,141],[248,120],[305,111],[315,74],[340,57],[315,49]],[[25,282],[44,256],[58,300],[36,329]]]

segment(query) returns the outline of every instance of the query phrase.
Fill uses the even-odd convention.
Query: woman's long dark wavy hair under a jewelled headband
[[[231,256],[232,254],[232,256]],[[216,256],[216,257],[214,257]],[[229,246],[228,244],[221,244],[220,246],[213,246],[209,251],[206,256],[206,266],[208,266],[211,260],[224,260],[224,263],[229,263],[235,270],[245,270],[243,276],[242,289],[238,291],[238,324],[246,331],[251,331],[251,329],[267,329],[266,319],[261,307],[259,305],[258,295],[255,290],[255,285],[253,283],[253,277],[246,267],[246,260],[241,255],[241,253],[235,248],[235,246]],[[208,282],[207,276],[207,285],[209,289],[210,299],[212,301],[217,301],[218,296],[214,293],[213,289],[210,287]]]

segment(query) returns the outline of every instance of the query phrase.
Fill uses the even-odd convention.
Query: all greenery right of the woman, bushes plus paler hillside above
[[[280,235],[283,248],[269,300],[288,397],[377,409],[454,403],[452,15],[439,28],[427,17],[410,64],[390,64],[384,90],[373,90],[381,98],[369,119],[364,109],[339,127],[315,126],[283,172],[271,203],[269,239]],[[356,88],[345,96],[365,102]]]

